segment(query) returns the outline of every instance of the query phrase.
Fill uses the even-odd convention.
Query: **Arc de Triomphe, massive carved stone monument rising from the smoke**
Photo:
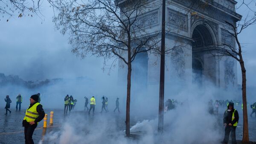
[[[162,0],[148,0],[162,3]],[[199,0],[198,0],[199,1]],[[202,0],[201,0],[202,1]],[[219,88],[237,86],[237,64],[231,57],[217,57],[214,45],[235,46],[234,38],[224,29],[225,21],[236,23],[234,0],[205,0],[205,6],[191,6],[191,0],[166,0],[166,48],[182,45],[166,54],[165,85],[184,86],[191,83],[215,85]],[[139,19],[152,31],[161,31],[162,7],[147,10]],[[168,31],[169,29],[172,29]],[[120,65],[120,64],[119,64]],[[160,57],[140,54],[132,64],[132,82],[149,90],[159,89]],[[119,68],[119,80],[126,81],[126,68]],[[135,89],[140,89],[134,87]]]

